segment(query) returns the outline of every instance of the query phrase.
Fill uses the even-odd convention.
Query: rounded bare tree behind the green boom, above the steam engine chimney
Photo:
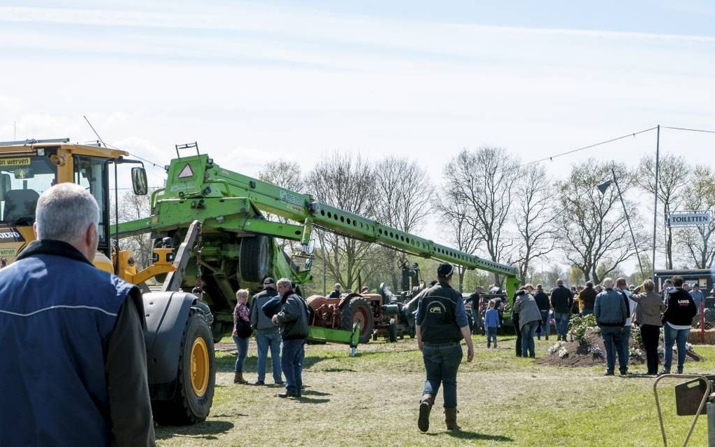
[[[429,215],[433,186],[427,170],[415,161],[387,157],[375,166],[377,206],[375,213],[385,225],[404,232],[418,230]],[[375,247],[382,253],[383,272],[388,272],[393,290],[401,277],[399,252],[388,247]]]

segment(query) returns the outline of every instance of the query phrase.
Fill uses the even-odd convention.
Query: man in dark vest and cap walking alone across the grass
[[[467,342],[467,361],[474,358],[467,313],[462,295],[450,286],[453,265],[443,262],[437,269],[438,283],[420,298],[415,315],[417,345],[422,351],[427,380],[420,399],[420,431],[430,428],[430,411],[435,396],[444,385],[445,423],[448,430],[457,425],[457,370],[462,360],[460,341]]]

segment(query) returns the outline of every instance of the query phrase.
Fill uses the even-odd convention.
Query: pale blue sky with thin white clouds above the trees
[[[706,1],[146,4],[0,1],[0,139],[94,139],[87,114],[159,164],[188,141],[249,175],[346,150],[416,159],[438,182],[463,147],[528,162],[656,124],[715,127]],[[654,144],[546,166],[635,165]],[[668,131],[661,149],[702,165],[714,145]]]

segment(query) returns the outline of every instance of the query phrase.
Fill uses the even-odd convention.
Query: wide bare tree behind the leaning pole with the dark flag
[[[596,190],[596,185],[611,179],[611,169],[625,193],[630,187],[625,170],[615,162],[593,158],[573,166],[568,179],[557,183],[562,208],[556,217],[559,245],[583,277],[595,283],[635,253],[616,187],[608,188],[604,194]]]

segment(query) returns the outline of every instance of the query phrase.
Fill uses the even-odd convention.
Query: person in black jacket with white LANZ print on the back
[[[686,341],[690,334],[690,326],[697,308],[695,301],[683,290],[683,277],[673,277],[673,289],[666,295],[666,311],[663,314],[663,340],[665,353],[663,359],[663,374],[669,374],[673,362],[673,343],[678,343],[678,373],[683,373],[685,363]]]

